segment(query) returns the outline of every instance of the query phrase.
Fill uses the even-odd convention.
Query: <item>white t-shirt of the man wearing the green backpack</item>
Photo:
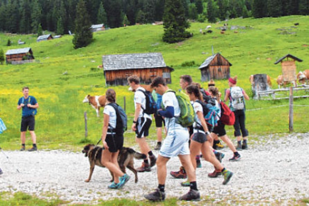
[[[177,124],[175,122],[175,116],[179,116],[180,115],[180,108],[179,108],[179,104],[177,101],[177,98],[175,96],[174,92],[166,92],[163,94],[162,96],[162,102],[163,102],[163,106],[164,108],[167,108],[168,106],[174,107],[174,117],[172,118],[167,118],[165,117],[165,126],[167,128],[168,131],[171,130],[187,130],[187,128],[181,126],[180,124]]]

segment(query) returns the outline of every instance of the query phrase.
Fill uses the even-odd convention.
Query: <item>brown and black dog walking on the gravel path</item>
[[[93,173],[93,170],[95,169],[95,165],[99,167],[105,167],[101,163],[101,156],[102,156],[102,150],[104,148],[95,146],[94,144],[88,144],[84,147],[82,150],[83,153],[85,153],[85,157],[88,157],[89,163],[90,163],[90,169],[89,169],[89,177],[85,180],[85,182],[89,182]],[[125,172],[125,167],[127,167],[129,170],[131,170],[135,175],[135,183],[138,182],[137,177],[137,171],[134,168],[134,158],[135,159],[145,159],[146,155],[141,154],[139,152],[136,152],[135,150],[129,148],[129,147],[122,147],[122,149],[119,151],[118,155],[118,164],[123,173]],[[109,171],[112,175],[111,182],[114,181],[114,175],[112,171]]]

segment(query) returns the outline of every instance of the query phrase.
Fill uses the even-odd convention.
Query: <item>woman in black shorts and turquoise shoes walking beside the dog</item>
[[[130,179],[130,176],[123,173],[118,165],[118,154],[123,146],[123,132],[116,131],[117,113],[116,92],[108,89],[105,93],[106,105],[104,107],[104,124],[102,128],[102,142],[104,150],[102,151],[101,163],[109,169],[114,175],[114,182],[108,185],[109,189],[121,189]],[[113,104],[113,105],[112,105]],[[119,116],[119,115],[118,115]],[[118,120],[119,121],[119,120]]]

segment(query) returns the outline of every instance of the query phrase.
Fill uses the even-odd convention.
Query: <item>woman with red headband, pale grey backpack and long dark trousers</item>
[[[234,136],[237,138],[236,150],[247,150],[248,130],[245,126],[245,100],[249,100],[249,96],[245,90],[237,86],[237,76],[230,77],[228,80],[229,87],[226,89],[224,101],[230,101],[230,108],[235,114]],[[241,143],[243,139],[243,143]]]

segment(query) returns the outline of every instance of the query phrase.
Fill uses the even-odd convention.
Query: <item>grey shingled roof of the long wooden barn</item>
[[[105,55],[102,60],[104,71],[167,67],[161,53]]]

